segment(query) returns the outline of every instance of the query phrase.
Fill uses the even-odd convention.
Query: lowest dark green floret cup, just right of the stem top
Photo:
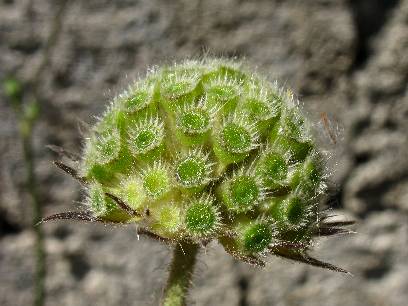
[[[262,253],[271,244],[272,231],[266,222],[250,222],[239,230],[239,236],[247,251]]]

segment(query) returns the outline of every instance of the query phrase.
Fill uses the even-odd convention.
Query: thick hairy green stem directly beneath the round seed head
[[[198,253],[198,244],[180,242],[176,245],[171,263],[170,275],[163,306],[182,306],[186,304],[188,287],[193,276]]]

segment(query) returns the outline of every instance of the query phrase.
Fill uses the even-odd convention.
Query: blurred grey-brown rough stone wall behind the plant
[[[38,98],[33,164],[43,217],[80,206],[80,185],[46,145],[80,151],[80,122],[147,67],[209,48],[245,56],[344,126],[333,213],[358,233],[314,255],[347,276],[271,257],[266,270],[213,242],[197,305],[403,305],[408,299],[407,1],[0,1],[0,83]],[[127,77],[126,77],[127,76]],[[32,304],[35,232],[15,109],[0,93],[0,304]],[[74,202],[76,201],[76,202]],[[42,226],[46,305],[157,305],[171,246],[132,226]]]

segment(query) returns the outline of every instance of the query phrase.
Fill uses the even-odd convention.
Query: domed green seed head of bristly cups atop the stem
[[[258,266],[266,252],[302,261],[324,219],[324,129],[244,61],[204,55],[115,95],[77,169],[59,166],[84,183],[89,220],[136,222],[159,241],[216,239]]]

